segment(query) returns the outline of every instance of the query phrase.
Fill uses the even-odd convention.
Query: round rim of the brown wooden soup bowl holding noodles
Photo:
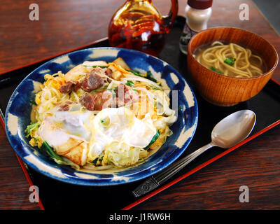
[[[215,71],[211,71],[211,69],[208,69],[207,67],[203,66],[202,64],[200,64],[200,62],[197,62],[197,60],[195,59],[195,57],[193,56],[193,52],[191,52],[190,50],[190,46],[191,46],[191,43],[193,42],[193,40],[195,38],[198,38],[198,36],[206,31],[212,31],[212,30],[215,30],[215,29],[239,29],[239,30],[242,30],[242,31],[246,31],[250,34],[254,34],[256,36],[258,36],[259,38],[261,38],[263,41],[267,42],[268,45],[272,48],[272,50],[274,51],[274,54],[276,55],[276,61],[274,62],[274,65],[272,66],[272,69],[269,69],[269,71],[266,71],[265,73],[263,73],[261,76],[254,76],[254,77],[246,77],[246,78],[243,78],[243,77],[235,77],[235,76],[225,76],[224,74],[220,74],[220,73],[217,73]],[[217,40],[218,41],[218,40]],[[190,54],[189,54],[190,53]],[[192,36],[192,38],[190,38],[190,41],[188,43],[188,55],[190,55],[190,57],[192,57],[193,59],[195,59],[195,62],[197,62],[197,64],[200,64],[200,66],[204,69],[207,69],[208,71],[211,71],[211,73],[214,73],[218,76],[222,76],[222,77],[226,77],[226,78],[232,78],[232,79],[236,79],[236,80],[253,80],[253,79],[258,79],[260,77],[265,77],[267,75],[269,75],[269,73],[271,73],[272,71],[274,71],[276,69],[276,66],[278,65],[279,63],[279,55],[276,51],[276,49],[274,48],[274,45],[272,45],[271,43],[269,43],[269,41],[267,41],[265,38],[263,38],[262,36],[258,35],[258,34],[255,34],[255,32],[253,31],[248,31],[247,29],[241,29],[241,28],[237,28],[237,27],[223,27],[223,26],[219,26],[219,27],[210,27],[210,28],[207,28],[207,29],[204,29],[200,32],[198,32],[197,34],[195,34],[194,36]]]

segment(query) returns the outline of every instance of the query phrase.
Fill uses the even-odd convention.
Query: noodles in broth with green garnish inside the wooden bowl
[[[215,41],[198,48],[194,55],[197,62],[225,76],[250,78],[260,76],[264,71],[264,64],[258,55],[235,43],[226,45]]]

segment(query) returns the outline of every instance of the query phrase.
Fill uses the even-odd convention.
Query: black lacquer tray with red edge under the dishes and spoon
[[[167,36],[165,48],[160,53],[159,58],[174,66],[174,68],[177,69],[186,78],[186,80],[188,80],[188,83],[192,85],[188,78],[186,55],[182,55],[179,51],[179,37],[181,35],[184,22],[184,18],[176,18],[176,22]],[[104,38],[91,43],[90,45],[85,45],[73,50],[104,47],[108,45],[108,40]],[[63,55],[64,53],[66,52],[62,52],[59,55]],[[55,55],[53,57],[57,56],[58,55]],[[14,69],[13,71],[8,71],[0,75],[0,109],[3,111],[3,113],[6,110],[6,105],[10,95],[13,93],[13,90],[15,90],[15,87],[17,87],[22,78],[25,78],[25,76],[36,69],[36,67],[40,66],[51,58],[52,57],[42,59],[38,62],[22,66],[18,69]],[[251,141],[260,134],[267,132],[267,130],[280,124],[280,84],[276,83],[276,81],[273,79],[269,80],[269,83],[267,83],[265,88],[252,99],[230,107],[220,107],[209,104],[200,97],[200,94],[198,94],[198,92],[195,90],[195,86],[192,85],[192,87],[197,97],[199,119],[195,136],[193,137],[190,146],[188,146],[181,157],[186,156],[195,151],[197,148],[207,144],[210,141],[211,130],[216,125],[216,123],[218,123],[218,121],[225,116],[228,116],[230,113],[239,111],[241,109],[251,109],[256,113],[257,116],[255,128],[248,139],[226,151],[221,151],[219,148],[214,148],[214,150],[204,153],[199,158],[191,162],[188,167],[182,169],[164,186],[161,186],[153,192],[148,193],[148,195],[144,195],[140,198],[135,198],[132,195],[132,190],[134,190],[134,188],[136,188],[143,180],[110,187],[73,186],[71,184],[49,179],[42,174],[38,174],[33,169],[27,167],[24,162],[18,158],[30,186],[35,185],[40,189],[39,206],[41,209],[73,209],[75,206],[79,209],[83,209],[83,207],[89,208],[94,206],[97,206],[98,209],[131,209],[137,206],[137,204],[148,200],[149,198],[153,197],[153,195],[160,193],[166,188],[169,188],[169,186],[172,186],[182,179],[187,178],[191,174],[194,174],[198,170],[207,167],[207,165],[211,164],[212,162],[215,162],[224,155],[236,150],[239,148],[239,146]],[[0,118],[0,122],[4,128],[3,118]],[[69,195],[71,195],[71,197],[69,197]]]

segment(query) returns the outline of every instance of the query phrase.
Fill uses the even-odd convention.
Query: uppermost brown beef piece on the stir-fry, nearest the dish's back
[[[104,78],[102,78],[102,74],[105,74],[105,70],[99,67],[92,69],[92,71],[85,76],[85,78],[81,81],[80,87],[85,92],[90,92],[92,90],[96,90],[99,87],[102,87],[104,84]]]

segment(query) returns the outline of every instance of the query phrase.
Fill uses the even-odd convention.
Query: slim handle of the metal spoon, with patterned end
[[[202,153],[207,151],[207,149],[213,146],[214,144],[209,143],[206,146],[197,149],[197,151],[191,153],[190,155],[187,155],[186,157],[182,158],[178,162],[175,162],[173,165],[169,166],[167,169],[164,169],[162,172],[151,176],[144,183],[141,183],[141,185],[139,185],[135,190],[132,191],[133,195],[135,197],[139,197],[157,188],[162,183],[171,178],[174,174],[179,172],[183,167],[195,160],[197,156],[201,155]]]

